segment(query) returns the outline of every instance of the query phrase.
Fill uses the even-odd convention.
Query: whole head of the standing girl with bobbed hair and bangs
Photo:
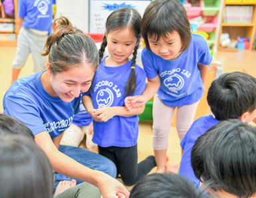
[[[147,49],[163,59],[177,58],[177,52],[186,50],[191,41],[191,27],[183,4],[179,0],[152,1],[144,12],[141,33]],[[159,40],[163,42],[157,43]],[[167,48],[171,56],[162,56]]]

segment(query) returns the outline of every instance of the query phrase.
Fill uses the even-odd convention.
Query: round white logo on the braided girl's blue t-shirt
[[[107,106],[111,106],[111,104],[113,103],[113,93],[111,92],[111,90],[109,90],[109,88],[105,88],[100,90],[97,93],[96,96],[96,101],[97,104],[99,106],[99,108],[102,107],[107,107]]]

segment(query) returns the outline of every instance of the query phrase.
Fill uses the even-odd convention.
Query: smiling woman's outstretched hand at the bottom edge
[[[117,179],[103,173],[99,178],[97,187],[104,198],[129,197],[129,191]]]

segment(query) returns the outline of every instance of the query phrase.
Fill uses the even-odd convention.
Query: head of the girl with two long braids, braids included
[[[103,58],[105,47],[109,50],[109,61],[112,66],[119,66],[131,62],[131,74],[125,86],[125,95],[134,94],[136,88],[135,63],[139,41],[141,39],[141,15],[129,7],[113,11],[107,18],[105,36],[99,49],[99,62]]]

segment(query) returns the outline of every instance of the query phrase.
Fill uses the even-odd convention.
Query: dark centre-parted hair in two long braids
[[[141,15],[133,9],[129,7],[123,7],[121,9],[117,9],[116,11],[113,11],[107,17],[106,22],[106,31],[105,35],[107,35],[110,31],[116,31],[117,29],[122,29],[125,27],[129,27],[131,31],[133,31],[136,39],[137,44],[135,45],[135,48],[133,50],[133,59],[131,62],[131,74],[129,76],[129,80],[127,81],[127,84],[125,85],[125,96],[134,94],[136,89],[136,74],[135,74],[135,63],[136,63],[136,56],[137,56],[137,50],[139,48],[139,41],[141,39]],[[103,58],[103,54],[105,51],[105,48],[107,47],[107,38],[106,36],[103,37],[103,42],[101,43],[101,48],[99,49],[99,62],[101,62],[101,59]]]

